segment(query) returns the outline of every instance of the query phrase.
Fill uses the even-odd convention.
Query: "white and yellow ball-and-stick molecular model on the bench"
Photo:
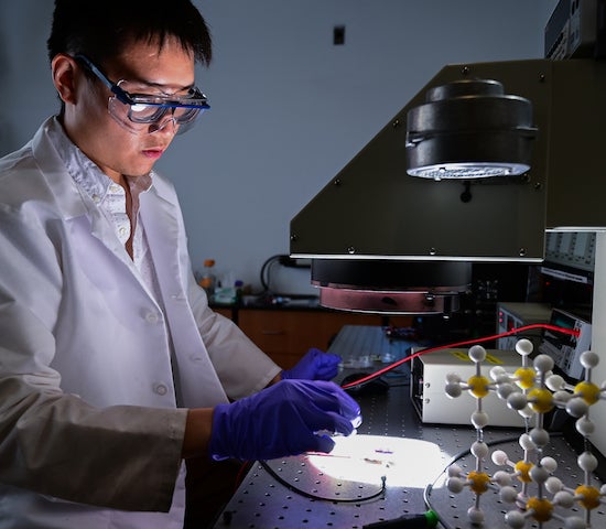
[[[469,487],[474,493],[474,505],[467,510],[473,525],[484,523],[480,498],[484,493],[493,489],[498,492],[504,503],[515,504],[515,508],[505,515],[506,522],[513,529],[523,528],[527,520],[537,522],[539,528],[550,520],[560,520],[565,529],[588,529],[592,527],[592,510],[604,504],[606,497],[606,485],[599,489],[591,485],[597,458],[592,454],[588,443],[595,430],[589,418],[589,409],[599,400],[606,400],[606,384],[598,387],[592,382],[592,369],[598,364],[599,358],[591,350],[583,353],[581,363],[585,373],[584,380],[572,386],[566,384],[563,377],[553,374],[554,363],[550,356],[538,355],[531,366],[532,349],[529,339],[519,339],[516,350],[521,356],[521,367],[509,374],[497,366],[490,369],[488,378],[481,373],[486,349],[480,345],[474,345],[469,348],[468,356],[475,364],[475,374],[467,381],[462,380],[457,374],[447,375],[445,391],[448,397],[457,398],[467,390],[477,403],[470,417],[476,429],[476,441],[470,446],[470,453],[476,460],[475,469],[465,475],[461,466],[452,464],[447,469],[446,486],[455,494],[465,487]],[[512,462],[506,452],[495,451],[491,454],[493,463],[510,467],[510,472],[498,471],[493,476],[481,469],[489,455],[483,432],[489,423],[489,418],[483,411],[483,399],[490,391],[495,391],[509,408],[517,410],[526,422],[526,432],[519,438],[523,458]],[[550,434],[543,427],[544,415],[554,408],[565,409],[571,417],[576,418],[576,430],[585,440],[585,451],[577,458],[584,482],[574,489],[566,487],[560,478],[553,476],[558,463],[543,454],[550,443]],[[519,490],[512,486],[515,481],[519,482]],[[556,507],[570,509],[575,505],[584,509],[584,517],[563,516],[555,510]]]

